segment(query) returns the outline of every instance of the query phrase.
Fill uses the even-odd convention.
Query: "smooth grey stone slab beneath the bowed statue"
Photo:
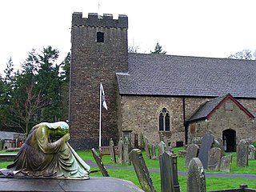
[[[143,191],[130,181],[111,177],[90,177],[88,180],[1,177],[0,186],[0,191]]]

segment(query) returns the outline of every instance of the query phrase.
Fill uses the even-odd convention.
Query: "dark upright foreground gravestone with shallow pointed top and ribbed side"
[[[161,175],[161,190],[162,192],[178,192],[178,169],[177,169],[177,155],[166,151],[159,156],[160,175]]]

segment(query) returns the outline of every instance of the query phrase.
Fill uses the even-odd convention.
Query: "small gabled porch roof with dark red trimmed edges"
[[[255,118],[253,114],[251,114],[241,103],[235,100],[232,95],[224,94],[218,98],[213,98],[210,101],[207,101],[202,104],[202,106],[198,107],[198,110],[191,115],[188,122],[194,122],[202,119],[210,118],[210,114],[214,112],[214,110],[218,109],[218,106],[222,105],[222,102],[226,100],[226,98],[230,98],[233,102],[239,106],[240,110],[243,110],[250,118]]]

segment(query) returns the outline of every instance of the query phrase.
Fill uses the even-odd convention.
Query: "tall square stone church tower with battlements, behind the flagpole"
[[[118,86],[115,72],[128,71],[128,18],[74,12],[71,29],[70,142],[76,150],[98,147],[99,85],[108,110],[102,108],[102,146],[118,138]]]

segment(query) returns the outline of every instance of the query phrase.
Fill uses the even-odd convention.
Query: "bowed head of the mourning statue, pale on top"
[[[63,136],[70,132],[70,127],[66,122],[42,122],[40,124],[46,125],[51,133],[56,136]]]

